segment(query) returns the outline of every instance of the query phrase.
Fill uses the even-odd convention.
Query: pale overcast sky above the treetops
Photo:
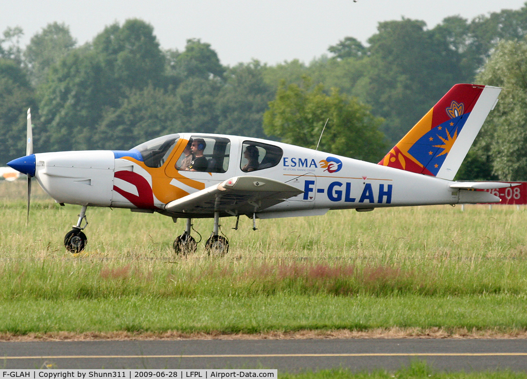
[[[83,44],[106,25],[140,18],[154,27],[162,48],[183,50],[201,38],[221,63],[258,59],[274,65],[298,58],[305,63],[327,53],[346,36],[363,43],[380,21],[421,19],[433,28],[446,16],[520,9],[525,0],[3,0],[0,32],[24,29],[23,44],[54,21],[70,26]]]

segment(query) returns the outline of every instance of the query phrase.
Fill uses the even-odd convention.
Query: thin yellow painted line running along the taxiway
[[[342,353],[342,354],[196,354],[196,355],[42,355],[4,356],[16,359],[78,359],[78,358],[271,358],[271,357],[368,357],[368,356],[527,356],[527,353]]]

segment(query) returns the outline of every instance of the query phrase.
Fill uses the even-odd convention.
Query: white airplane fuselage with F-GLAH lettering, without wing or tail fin
[[[37,153],[34,176],[59,203],[158,211],[172,217],[211,217],[212,214],[169,212],[164,207],[170,201],[229,178],[248,175],[284,182],[303,192],[267,209],[257,209],[260,218],[322,214],[330,209],[496,201],[487,192],[452,189],[450,180],[280,142],[207,134],[171,136],[175,136],[175,143],[159,163],[149,164],[144,151],[143,157],[134,149]],[[179,170],[178,160],[190,138],[204,138],[228,146],[219,152],[206,149],[209,161],[218,160],[214,157],[216,153],[221,156],[221,167],[206,171]],[[265,155],[272,155],[272,161],[262,165],[266,157],[260,157],[260,167],[244,171],[243,151],[250,145],[259,147]]]

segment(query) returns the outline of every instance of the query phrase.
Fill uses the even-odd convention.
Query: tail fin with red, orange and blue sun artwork
[[[379,165],[453,180],[500,91],[456,84]]]

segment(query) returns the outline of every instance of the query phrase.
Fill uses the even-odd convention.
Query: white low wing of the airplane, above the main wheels
[[[256,176],[238,176],[218,185],[169,202],[165,210],[174,213],[232,214],[259,212],[304,191],[286,183]]]

